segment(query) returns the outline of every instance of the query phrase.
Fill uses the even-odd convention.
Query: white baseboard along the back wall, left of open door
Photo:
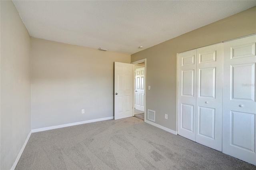
[[[57,125],[57,126],[52,126],[52,127],[45,127],[45,128],[36,128],[36,129],[32,129],[32,133],[34,132],[42,132],[45,130],[52,130],[52,129],[56,129],[56,128],[63,128],[63,127],[70,127],[70,126],[74,126],[74,125],[82,125],[82,124],[86,124],[86,123],[92,123],[92,122],[98,122],[98,121],[106,121],[106,120],[110,120],[110,119],[114,119],[114,117],[104,117],[104,118],[100,118],[100,119],[93,119],[93,120],[89,120],[89,121],[82,121],[82,122],[76,122],[76,123],[68,123],[68,124],[64,124],[64,125]]]

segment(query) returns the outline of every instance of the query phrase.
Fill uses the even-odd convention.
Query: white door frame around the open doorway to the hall
[[[145,62],[145,99],[144,99],[144,122],[146,121],[146,80],[147,80],[147,78],[146,78],[146,73],[147,73],[147,67],[146,67],[146,61],[147,61],[147,59],[146,58],[144,58],[144,59],[140,59],[140,60],[138,60],[138,61],[134,61],[134,62],[131,62],[131,64],[139,64],[139,63],[142,63],[142,62]],[[135,88],[134,87],[134,70],[133,70],[133,79],[132,79],[132,83],[133,83],[133,89]],[[133,99],[132,99],[132,101],[133,101],[133,105],[132,105],[132,116],[134,116],[134,103],[135,103],[135,101],[134,101],[134,93],[133,93]]]

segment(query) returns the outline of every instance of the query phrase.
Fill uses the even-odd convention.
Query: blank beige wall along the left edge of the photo
[[[0,169],[7,170],[30,132],[30,36],[12,1],[0,4]]]

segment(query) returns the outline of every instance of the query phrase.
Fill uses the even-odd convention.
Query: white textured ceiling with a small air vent
[[[13,2],[34,38],[126,54],[256,6],[255,0]]]

